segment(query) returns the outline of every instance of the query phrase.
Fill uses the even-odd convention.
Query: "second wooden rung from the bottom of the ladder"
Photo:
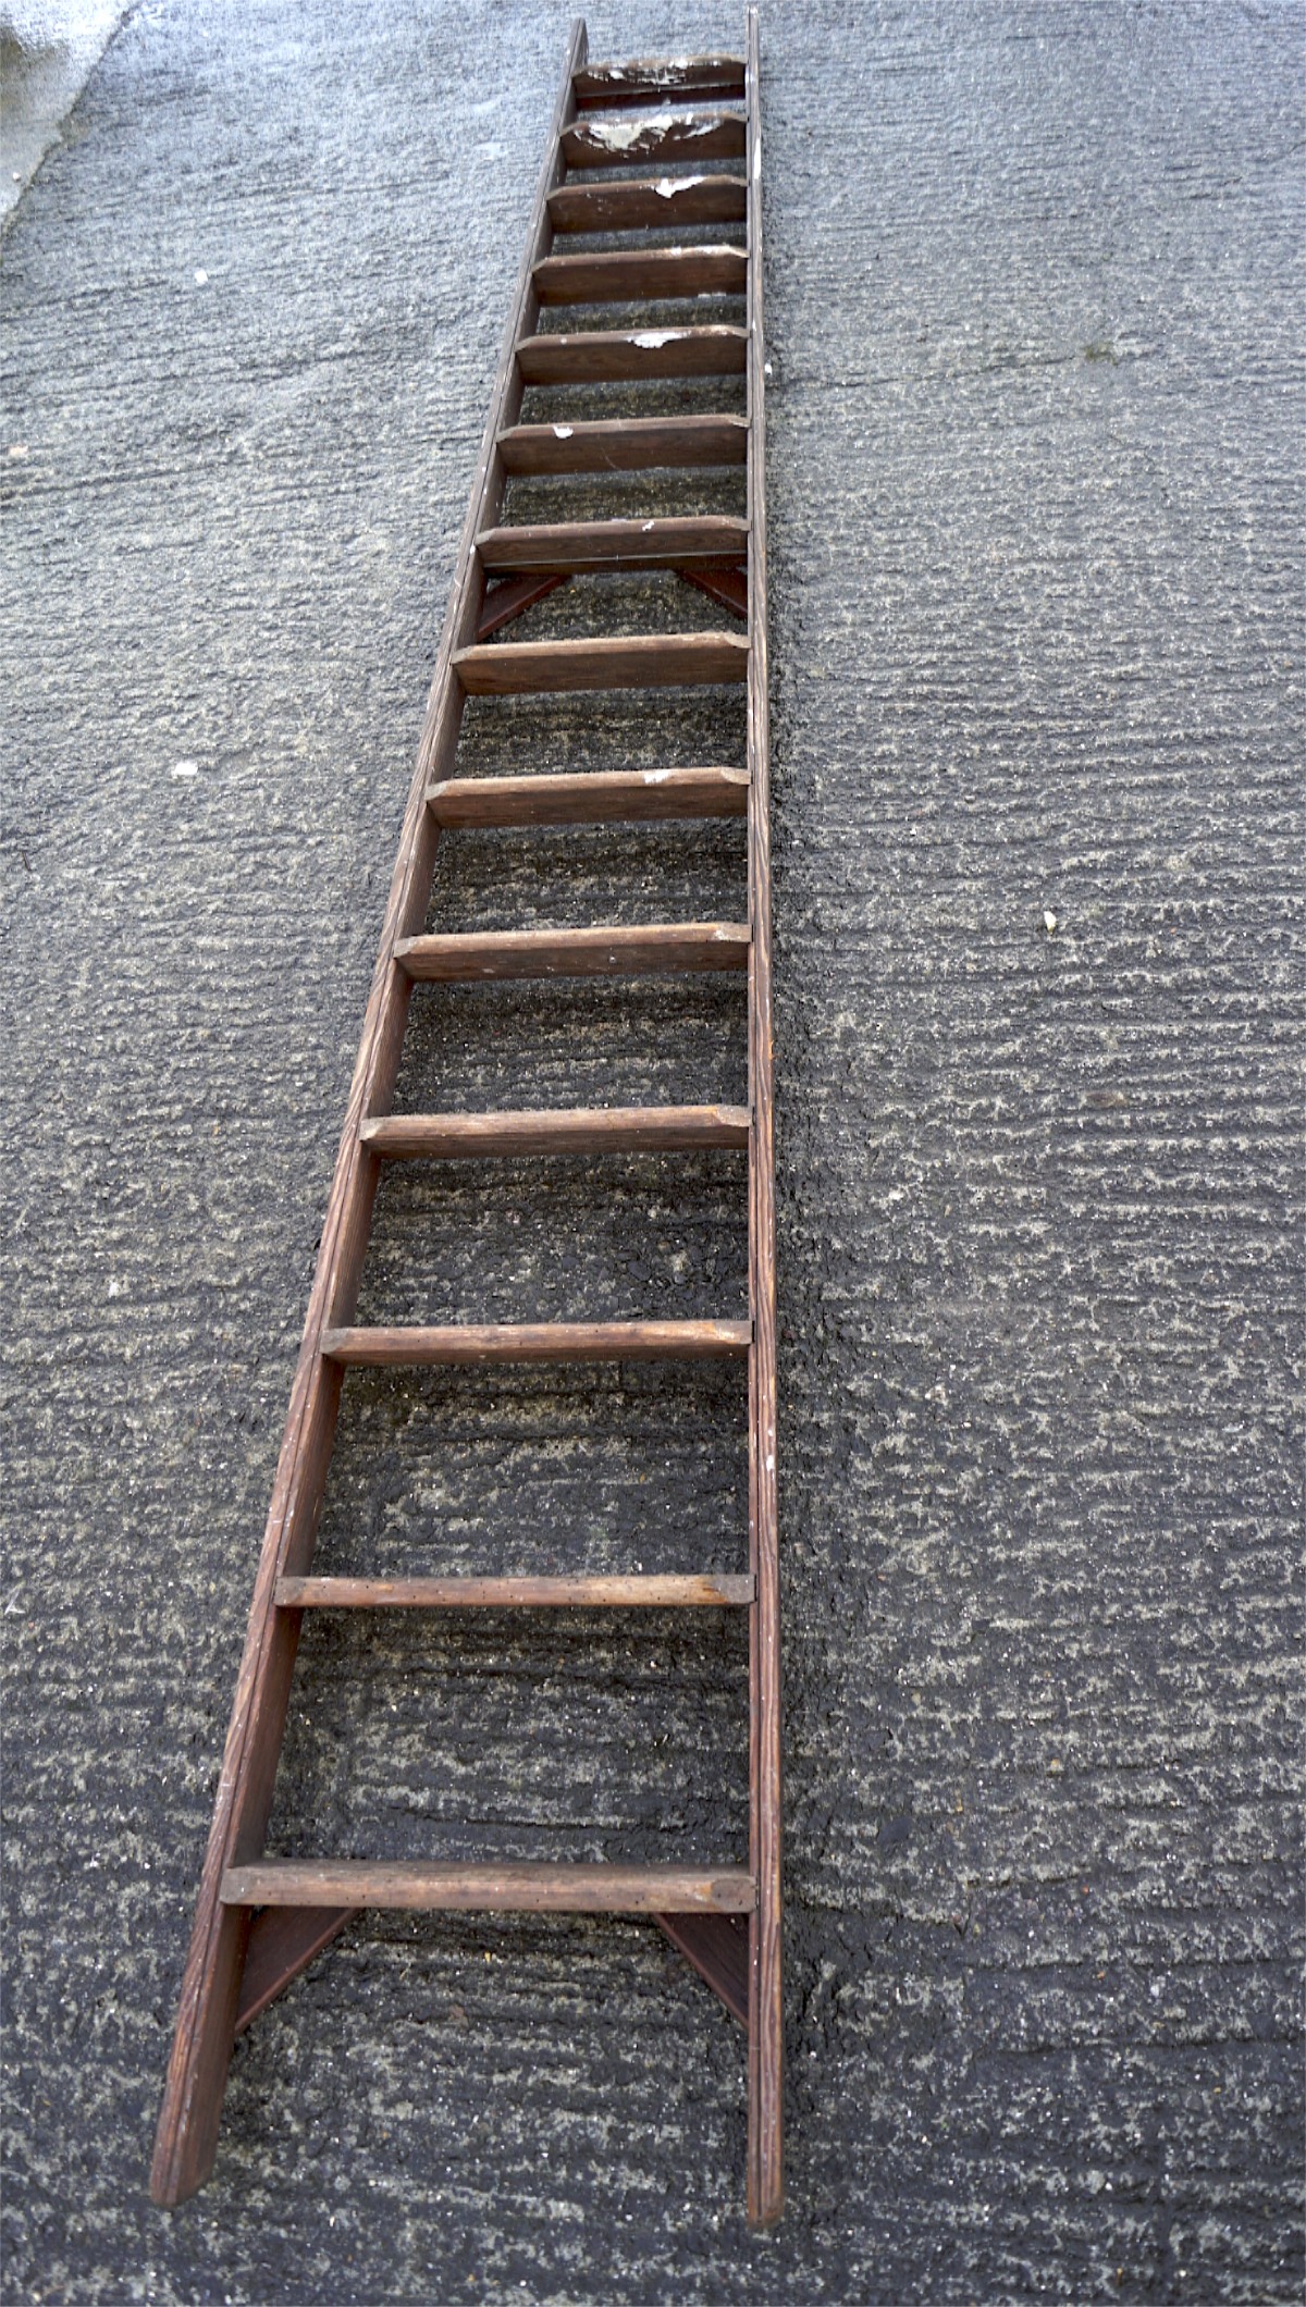
[[[755,1578],[282,1578],[282,1610],[745,1610]]]

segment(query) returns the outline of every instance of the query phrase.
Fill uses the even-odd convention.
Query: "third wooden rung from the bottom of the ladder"
[[[459,1322],[445,1329],[325,1329],[323,1359],[399,1370],[489,1361],[720,1361],[748,1354],[752,1322]]]

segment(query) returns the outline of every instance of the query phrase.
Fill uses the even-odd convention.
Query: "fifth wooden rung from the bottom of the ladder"
[[[408,978],[425,985],[748,969],[748,923],[674,920],[632,930],[468,930],[461,937],[401,937],[395,960]]]

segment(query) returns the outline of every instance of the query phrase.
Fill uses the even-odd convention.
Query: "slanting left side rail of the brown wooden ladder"
[[[307,1571],[312,1562],[344,1382],[344,1370],[323,1359],[321,1338],[325,1329],[348,1324],[358,1299],[378,1179],[378,1160],[362,1144],[360,1126],[388,1107],[399,1068],[411,978],[397,967],[395,946],[420,930],[429,902],[438,826],[425,796],[427,784],[448,775],[457,745],[464,692],[452,655],[471,639],[485,593],[475,538],[494,526],[503,501],[505,468],[496,443],[521,406],[515,346],[535,325],[533,268],[554,238],[547,201],[563,178],[561,136],[575,118],[572,74],[584,60],[586,30],[577,18],[455,563],[258,1557],[155,2141],[150,2194],[162,2205],[194,2194],[217,2150],[249,1940],[249,1910],[222,1903],[222,1876],[258,1855],[272,1802],[300,1631],[298,1613],[277,1608],[277,1580]]]

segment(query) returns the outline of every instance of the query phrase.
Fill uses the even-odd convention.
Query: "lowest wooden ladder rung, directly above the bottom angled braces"
[[[228,1866],[224,1906],[381,1906],[554,1915],[750,1915],[743,1866],[425,1866],[383,1859],[258,1859]]]

